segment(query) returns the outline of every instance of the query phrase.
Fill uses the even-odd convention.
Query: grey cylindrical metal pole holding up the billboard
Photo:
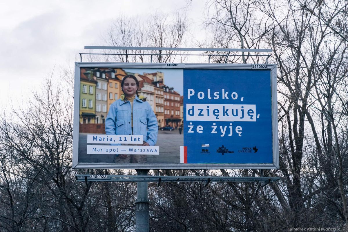
[[[138,175],[147,176],[149,170],[137,169]],[[137,199],[135,201],[135,231],[149,231],[149,205],[148,182],[137,182]]]

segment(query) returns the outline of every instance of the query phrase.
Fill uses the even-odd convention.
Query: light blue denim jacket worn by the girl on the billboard
[[[132,134],[130,102],[128,100],[114,101],[105,119],[106,134],[130,135]],[[158,124],[155,113],[147,101],[135,96],[133,102],[133,134],[143,135],[144,142],[155,146],[158,134]],[[121,144],[114,144],[121,145]]]

